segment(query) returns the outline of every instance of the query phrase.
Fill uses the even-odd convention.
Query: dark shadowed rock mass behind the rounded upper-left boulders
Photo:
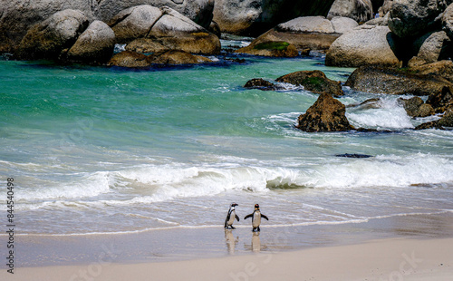
[[[11,0],[0,5],[0,53],[14,52],[34,25],[66,10],[81,11],[90,21],[109,22],[113,15],[136,5],[169,6],[197,24],[209,26],[214,0]]]

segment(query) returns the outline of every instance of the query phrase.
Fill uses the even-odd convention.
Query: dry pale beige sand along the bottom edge
[[[0,280],[453,280],[453,238],[386,239],[188,261],[5,269]]]

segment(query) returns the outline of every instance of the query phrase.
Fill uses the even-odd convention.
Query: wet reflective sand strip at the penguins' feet
[[[199,259],[241,260],[269,254],[285,256],[321,248],[355,247],[375,241],[413,240],[425,243],[453,239],[453,213],[446,211],[374,218],[361,223],[303,227],[276,228],[264,223],[259,235],[252,233],[251,227],[237,227],[234,230],[224,230],[222,226],[172,228],[114,235],[19,235],[15,237],[14,269],[28,272],[50,266],[59,271],[65,266],[86,267],[93,263],[113,267],[178,264]],[[3,240],[2,237],[0,240]],[[6,272],[6,269],[5,265],[0,265],[0,272]]]

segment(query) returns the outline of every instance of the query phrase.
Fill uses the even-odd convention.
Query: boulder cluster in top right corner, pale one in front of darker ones
[[[406,66],[435,63],[452,54],[453,1],[384,1],[380,18],[340,36],[326,65]]]

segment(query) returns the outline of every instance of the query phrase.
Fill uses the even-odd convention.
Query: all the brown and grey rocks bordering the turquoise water
[[[298,129],[354,130],[344,105],[333,98],[343,95],[342,86],[416,96],[400,99],[408,115],[440,116],[416,129],[451,129],[453,1],[428,2],[16,0],[0,13],[0,53],[16,60],[148,68],[213,63],[206,55],[221,52],[220,34],[252,34],[257,37],[250,45],[231,51],[271,57],[315,51],[325,53],[325,65],[357,68],[344,85],[304,70],[276,83],[247,82],[246,88],[275,91],[278,82],[287,82],[320,93],[299,117]],[[115,53],[115,44],[125,44],[126,51]]]

